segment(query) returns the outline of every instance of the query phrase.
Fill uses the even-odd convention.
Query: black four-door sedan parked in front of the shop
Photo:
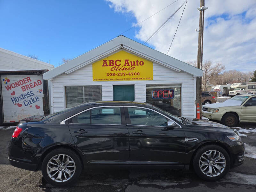
[[[131,167],[191,167],[215,181],[244,162],[244,144],[233,129],[147,103],[85,103],[38,119],[17,126],[8,158],[15,167],[42,170],[56,186],[74,183],[82,169]]]

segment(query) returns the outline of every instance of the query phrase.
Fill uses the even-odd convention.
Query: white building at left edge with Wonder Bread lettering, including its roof
[[[49,114],[48,82],[53,65],[0,48],[0,124]]]

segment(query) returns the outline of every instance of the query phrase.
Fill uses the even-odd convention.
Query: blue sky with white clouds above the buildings
[[[103,44],[175,0],[0,0],[0,47],[61,64]],[[178,0],[123,35],[143,43],[179,6]],[[228,7],[228,9],[220,9]],[[197,56],[199,0],[188,0],[168,55],[193,61]],[[256,2],[206,1],[203,60],[226,70],[256,67]],[[183,8],[183,7],[182,7]],[[180,9],[146,44],[166,54],[180,20]]]

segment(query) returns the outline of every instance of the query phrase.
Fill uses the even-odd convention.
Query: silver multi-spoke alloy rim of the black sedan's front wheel
[[[216,177],[225,170],[226,159],[219,151],[209,150],[200,157],[199,167],[206,176]]]

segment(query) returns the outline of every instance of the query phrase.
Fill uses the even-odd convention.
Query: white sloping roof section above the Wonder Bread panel
[[[30,57],[0,48],[0,71],[53,69],[54,66]]]

